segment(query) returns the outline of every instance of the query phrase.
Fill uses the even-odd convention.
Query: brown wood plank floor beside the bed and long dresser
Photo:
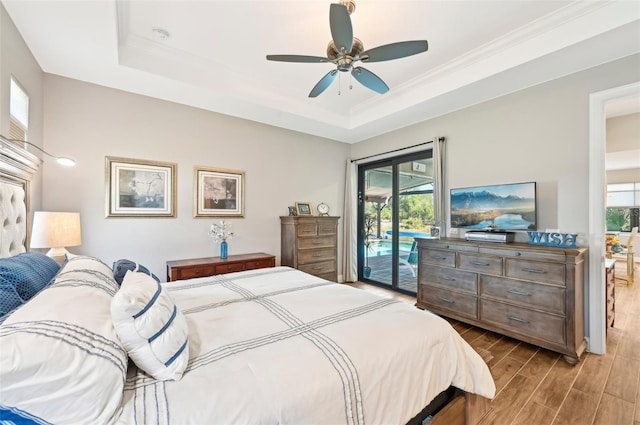
[[[624,271],[616,268],[618,277]],[[560,355],[480,328],[451,321],[474,348],[493,354],[496,425],[640,425],[640,274],[616,285],[616,319],[607,354],[585,353],[576,366]],[[382,296],[415,298],[376,286],[354,286]]]

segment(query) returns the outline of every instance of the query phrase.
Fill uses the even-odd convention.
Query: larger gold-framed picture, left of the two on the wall
[[[176,168],[170,162],[106,157],[107,217],[175,217]]]

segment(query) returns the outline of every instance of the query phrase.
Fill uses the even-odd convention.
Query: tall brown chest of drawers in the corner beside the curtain
[[[280,217],[280,264],[337,282],[340,217]]]

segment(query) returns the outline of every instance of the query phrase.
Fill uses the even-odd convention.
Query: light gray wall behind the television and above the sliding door
[[[639,78],[635,55],[363,141],[351,154],[363,157],[444,136],[449,188],[535,181],[538,227],[578,233],[585,245],[589,94]],[[526,240],[526,234],[517,239]]]

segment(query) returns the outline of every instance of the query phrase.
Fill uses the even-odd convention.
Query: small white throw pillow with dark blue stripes
[[[111,318],[140,369],[162,381],[182,378],[189,361],[187,320],[161,284],[127,271],[111,301]]]

